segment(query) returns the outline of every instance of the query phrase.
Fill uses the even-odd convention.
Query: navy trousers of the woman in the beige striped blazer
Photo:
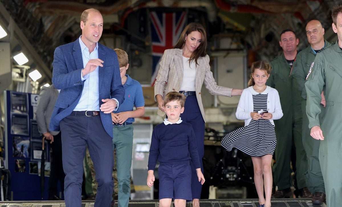
[[[199,161],[201,164],[201,171],[203,173],[203,162],[202,158],[204,155],[204,130],[205,122],[203,120],[201,111],[198,106],[196,95],[190,95],[186,97],[184,104],[184,112],[181,114],[183,121],[192,125],[196,136],[197,151],[199,156]],[[198,177],[196,173],[196,168],[192,162],[191,166],[191,190],[193,199],[201,197],[202,185],[198,182]]]

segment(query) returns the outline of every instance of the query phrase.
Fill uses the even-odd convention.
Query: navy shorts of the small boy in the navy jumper
[[[159,200],[163,198],[192,200],[190,164],[160,164],[158,174]]]

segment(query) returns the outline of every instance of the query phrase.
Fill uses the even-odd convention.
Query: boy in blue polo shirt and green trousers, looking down
[[[145,100],[140,83],[133,80],[126,70],[128,69],[128,55],[125,51],[114,49],[118,55],[120,76],[125,89],[125,100],[119,105],[116,113],[111,113],[113,121],[113,148],[116,148],[116,165],[118,178],[118,206],[128,207],[130,197],[130,177],[133,148],[134,118],[145,113]],[[133,110],[135,106],[135,110]]]

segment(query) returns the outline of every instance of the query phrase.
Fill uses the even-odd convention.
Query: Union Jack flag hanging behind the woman
[[[166,49],[175,46],[186,22],[186,12],[150,12],[150,27],[152,40],[152,77],[154,86],[159,70],[161,56]]]

